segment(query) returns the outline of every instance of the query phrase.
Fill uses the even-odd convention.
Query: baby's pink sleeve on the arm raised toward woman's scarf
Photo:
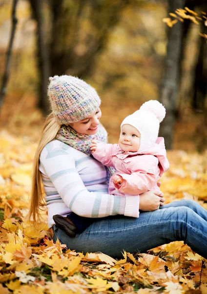
[[[97,143],[96,151],[93,152],[93,157],[103,163],[105,166],[113,167],[112,155],[118,149],[118,144]]]

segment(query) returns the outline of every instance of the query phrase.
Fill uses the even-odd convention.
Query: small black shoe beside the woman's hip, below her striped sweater
[[[53,216],[56,226],[63,230],[70,238],[74,238],[78,233],[78,228],[69,218],[60,215]]]

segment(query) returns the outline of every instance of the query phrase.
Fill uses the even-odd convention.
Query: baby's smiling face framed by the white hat
[[[130,124],[122,126],[119,147],[124,151],[137,152],[140,147],[140,132]]]

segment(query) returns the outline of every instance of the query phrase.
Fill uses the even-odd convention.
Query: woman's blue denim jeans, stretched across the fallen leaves
[[[75,238],[53,226],[54,238],[77,252],[101,251],[121,258],[122,251],[145,252],[172,241],[184,241],[193,251],[207,258],[207,211],[193,200],[174,201],[140,217],[121,215],[93,222]]]

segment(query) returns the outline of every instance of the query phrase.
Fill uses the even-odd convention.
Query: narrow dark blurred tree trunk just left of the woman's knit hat
[[[49,101],[47,98],[47,84],[50,75],[48,49],[44,38],[43,17],[42,17],[42,0],[30,0],[34,18],[37,22],[37,50],[38,65],[40,73],[39,82],[39,103],[38,106],[44,114],[48,114]]]

